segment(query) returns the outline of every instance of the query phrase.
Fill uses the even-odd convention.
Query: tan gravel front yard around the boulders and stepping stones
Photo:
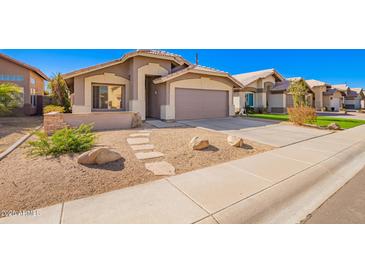
[[[225,134],[203,129],[152,129],[150,143],[165,157],[141,161],[126,141],[136,132],[98,132],[97,144],[117,150],[123,159],[95,167],[77,164],[78,154],[34,158],[27,155],[27,144],[23,144],[0,161],[0,210],[36,209],[162,178],[147,171],[146,162],[165,160],[180,174],[271,149],[250,141],[244,148],[231,147]],[[194,136],[207,137],[212,146],[191,150],[188,143]]]

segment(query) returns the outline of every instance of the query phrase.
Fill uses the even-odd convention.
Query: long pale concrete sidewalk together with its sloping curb
[[[0,223],[298,223],[365,165],[365,126]]]

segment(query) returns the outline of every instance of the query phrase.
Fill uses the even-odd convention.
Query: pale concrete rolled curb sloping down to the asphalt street
[[[219,223],[300,223],[364,166],[365,141],[360,141],[213,216]]]

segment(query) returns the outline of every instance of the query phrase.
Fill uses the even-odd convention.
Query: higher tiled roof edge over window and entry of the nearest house
[[[116,64],[124,63],[129,58],[132,58],[132,57],[135,57],[135,56],[146,56],[146,57],[152,57],[152,58],[153,57],[160,57],[160,58],[164,58],[164,59],[174,61],[179,65],[182,65],[182,64],[190,65],[190,62],[188,62],[183,57],[181,57],[180,55],[175,54],[175,53],[170,53],[170,52],[162,51],[162,50],[139,49],[139,50],[136,50],[136,51],[126,53],[121,58],[118,58],[118,59],[115,59],[115,60],[112,60],[112,61],[109,61],[109,62],[97,64],[97,65],[94,65],[94,66],[74,70],[74,71],[71,71],[69,73],[63,74],[62,76],[65,79],[72,78],[72,77],[80,75],[80,74],[84,74],[84,73],[88,73],[88,72],[91,72],[91,71],[94,71],[94,70],[98,70],[98,69],[113,66],[113,65],[116,65]]]

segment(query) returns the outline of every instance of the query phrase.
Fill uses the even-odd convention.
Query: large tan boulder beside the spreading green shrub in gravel
[[[82,165],[102,165],[120,160],[121,158],[122,156],[118,152],[100,147],[84,152],[79,156],[77,162]]]

